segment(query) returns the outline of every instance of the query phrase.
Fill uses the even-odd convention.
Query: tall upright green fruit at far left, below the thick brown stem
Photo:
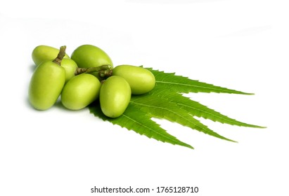
[[[45,61],[35,69],[30,80],[28,98],[35,109],[46,110],[56,103],[65,84],[62,66]]]

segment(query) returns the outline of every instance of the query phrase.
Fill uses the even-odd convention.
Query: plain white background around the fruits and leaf
[[[0,195],[121,195],[101,188],[198,186],[191,195],[289,195],[286,1],[1,1]],[[195,150],[58,103],[27,102],[37,45],[97,45],[134,64],[255,95],[188,94],[253,129],[202,120],[232,143],[157,120]],[[169,195],[169,194],[123,194]],[[171,194],[174,195],[174,194]],[[190,194],[178,194],[190,195]]]

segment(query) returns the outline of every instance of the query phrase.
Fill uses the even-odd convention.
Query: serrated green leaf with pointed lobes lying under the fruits
[[[210,130],[210,128],[193,117],[207,118],[229,125],[262,128],[257,125],[242,123],[233,118],[229,118],[228,116],[224,116],[207,106],[181,95],[182,93],[188,92],[251,93],[202,83],[198,80],[176,76],[174,73],[165,73],[164,71],[153,70],[151,68],[146,69],[150,70],[155,76],[155,88],[147,94],[132,96],[131,102],[122,116],[115,119],[104,116],[99,104],[91,104],[89,106],[91,113],[94,113],[94,116],[98,116],[103,120],[110,121],[110,123],[113,123],[114,125],[120,125],[121,127],[126,127],[127,130],[134,130],[134,132],[146,135],[146,137],[170,144],[186,146],[188,148],[193,147],[179,141],[179,139],[176,139],[176,137],[167,133],[166,130],[163,130],[160,125],[151,120],[151,118],[166,119],[190,127],[192,130],[198,130],[199,132],[227,141],[233,140],[227,139],[226,137],[217,134],[217,132]]]

